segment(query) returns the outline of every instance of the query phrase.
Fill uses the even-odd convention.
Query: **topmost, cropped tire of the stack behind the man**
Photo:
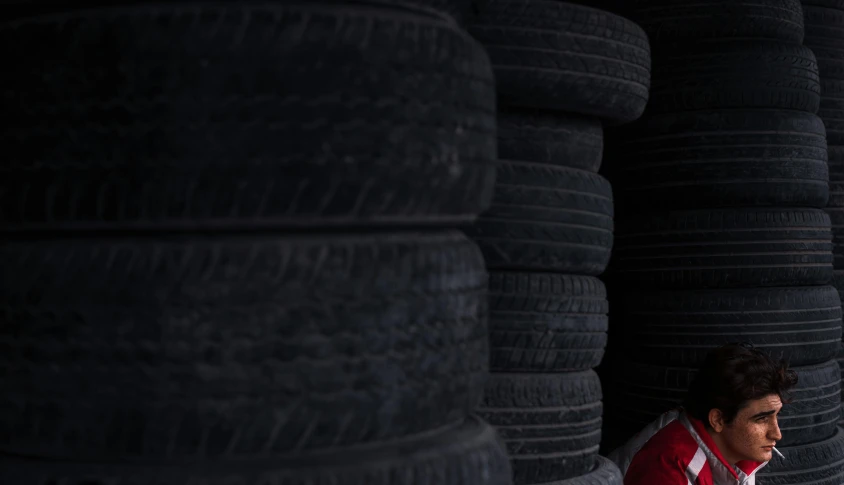
[[[803,43],[800,0],[636,0],[630,18],[654,44],[771,39]]]

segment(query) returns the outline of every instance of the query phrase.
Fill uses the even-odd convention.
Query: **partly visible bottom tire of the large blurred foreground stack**
[[[61,463],[0,457],[0,482],[20,485],[510,485],[506,451],[477,418],[427,436],[336,454],[180,466]]]

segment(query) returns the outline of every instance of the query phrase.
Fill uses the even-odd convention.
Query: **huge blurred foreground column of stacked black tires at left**
[[[51,8],[0,23],[0,483],[511,483],[447,229],[493,189],[480,44],[396,2]]]

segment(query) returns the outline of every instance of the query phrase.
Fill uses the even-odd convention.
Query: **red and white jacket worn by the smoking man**
[[[609,455],[624,485],[756,485],[768,462],[730,466],[703,423],[682,410],[669,411]]]

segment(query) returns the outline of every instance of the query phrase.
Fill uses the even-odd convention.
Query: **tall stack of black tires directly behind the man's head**
[[[618,443],[674,407],[707,351],[748,341],[799,384],[760,484],[844,483],[841,308],[818,67],[796,0],[640,0],[651,98],[619,130],[611,282]]]

